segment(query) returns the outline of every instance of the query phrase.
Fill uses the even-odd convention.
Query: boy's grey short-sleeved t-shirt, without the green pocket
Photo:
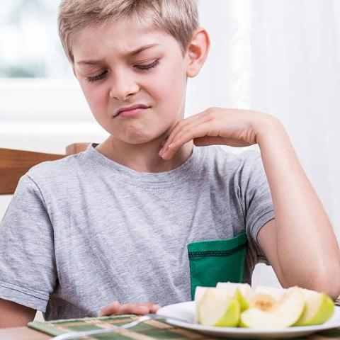
[[[114,300],[191,300],[186,245],[246,231],[246,281],[274,218],[261,154],[193,147],[188,160],[140,173],[85,152],[21,177],[0,224],[0,297],[47,320],[95,317]]]

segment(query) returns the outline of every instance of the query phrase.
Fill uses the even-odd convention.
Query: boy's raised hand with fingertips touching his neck
[[[171,159],[179,148],[193,140],[197,146],[229,145],[248,147],[256,144],[260,130],[266,130],[273,115],[259,111],[208,108],[208,110],[180,120],[171,130],[159,151],[163,159]]]

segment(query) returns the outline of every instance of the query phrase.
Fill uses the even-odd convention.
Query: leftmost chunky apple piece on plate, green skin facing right
[[[215,327],[236,327],[239,324],[239,302],[227,295],[220,295],[219,290],[205,290],[200,300],[200,324]],[[217,293],[217,294],[216,294]]]

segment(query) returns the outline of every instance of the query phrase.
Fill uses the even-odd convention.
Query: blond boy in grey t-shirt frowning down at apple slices
[[[283,287],[339,295],[334,233],[280,122],[226,108],[183,119],[210,45],[194,0],[63,0],[59,24],[110,136],[21,178],[0,229],[1,327],[35,310],[145,314],[190,300],[187,245],[242,232],[244,281],[265,261]],[[261,155],[217,146],[255,143]]]

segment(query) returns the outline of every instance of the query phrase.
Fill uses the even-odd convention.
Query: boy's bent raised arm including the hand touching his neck
[[[258,234],[261,249],[284,287],[300,285],[337,297],[339,246],[280,120],[259,111],[208,108],[176,123],[159,156],[171,159],[191,140],[196,146],[259,144],[275,211],[275,220]]]

